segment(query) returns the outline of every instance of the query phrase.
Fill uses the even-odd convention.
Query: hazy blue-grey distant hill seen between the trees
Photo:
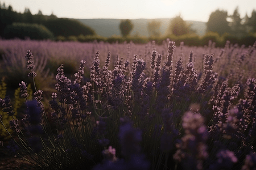
[[[94,29],[97,35],[110,37],[113,35],[121,35],[119,30],[119,23],[121,19],[77,19],[81,23],[88,25],[90,28]],[[162,22],[160,31],[162,35],[166,33],[168,25],[170,24],[171,18],[160,18],[157,19]],[[147,23],[151,22],[152,19],[132,19],[134,24],[133,31],[131,35],[139,36],[149,36],[147,31]],[[207,26],[205,22],[197,21],[186,21],[188,24],[191,24],[191,28],[196,30],[196,33],[200,36],[203,36],[206,32]]]

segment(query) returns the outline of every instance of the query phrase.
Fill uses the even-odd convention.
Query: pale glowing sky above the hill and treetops
[[[58,18],[75,19],[156,19],[181,15],[184,20],[207,22],[217,9],[232,15],[236,7],[243,18],[256,10],[256,0],[0,0],[1,5],[11,5],[14,11],[32,14],[52,13]]]

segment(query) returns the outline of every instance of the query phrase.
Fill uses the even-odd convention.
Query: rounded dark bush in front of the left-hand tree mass
[[[7,25],[4,30],[4,37],[6,39],[26,39],[31,40],[45,40],[53,39],[53,34],[44,25],[27,24],[27,23],[13,23]]]

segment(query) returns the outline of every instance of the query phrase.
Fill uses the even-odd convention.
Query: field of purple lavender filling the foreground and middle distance
[[[0,145],[36,169],[256,168],[256,42],[0,40],[0,54]]]

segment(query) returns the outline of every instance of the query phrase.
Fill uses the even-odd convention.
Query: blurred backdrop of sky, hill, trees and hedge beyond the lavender
[[[1,1],[2,39],[125,41],[171,37],[217,46],[243,44],[256,35],[256,2],[203,0]],[[247,45],[247,44],[246,44]]]

